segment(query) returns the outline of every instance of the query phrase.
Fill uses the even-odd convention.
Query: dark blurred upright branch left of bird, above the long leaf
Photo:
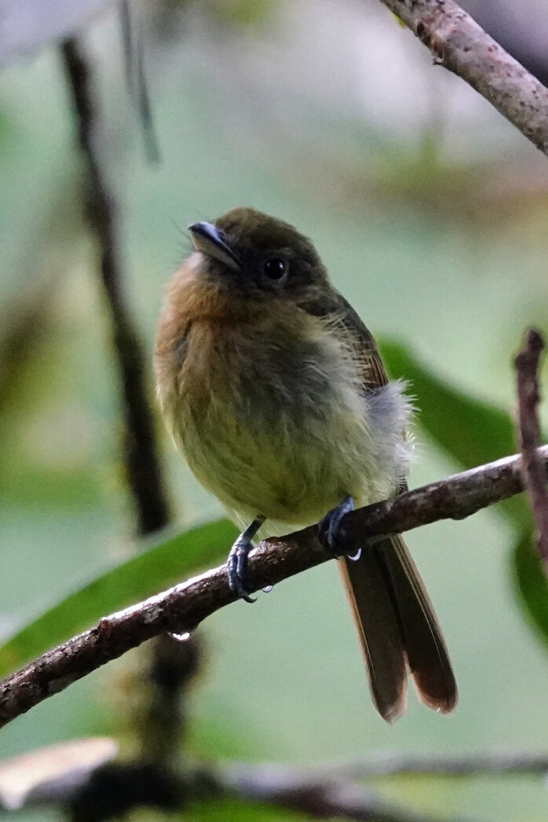
[[[168,523],[168,503],[146,386],[148,369],[122,287],[117,209],[100,163],[92,67],[76,38],[65,40],[61,48],[85,164],[85,215],[99,247],[101,281],[122,388],[127,482],[136,505],[139,533],[148,534]]]

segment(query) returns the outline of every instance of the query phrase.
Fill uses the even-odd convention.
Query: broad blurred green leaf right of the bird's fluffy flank
[[[417,362],[403,345],[383,340],[380,348],[391,376],[410,382],[418,423],[459,466],[473,468],[515,454],[509,413],[444,381]],[[503,506],[504,513],[523,529],[527,521],[523,499],[513,497]]]

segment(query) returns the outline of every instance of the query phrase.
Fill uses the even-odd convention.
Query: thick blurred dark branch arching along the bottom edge
[[[44,755],[48,755],[47,748],[36,751],[37,757]],[[131,762],[67,764],[63,773],[35,783],[21,796],[19,804],[6,807],[21,810],[37,805],[64,806],[71,810],[73,819],[102,822],[143,806],[191,812],[196,802],[232,798],[250,805],[276,806],[316,820],[435,822],[438,819],[386,801],[371,787],[358,785],[352,772],[347,774],[336,765],[334,769],[335,773],[329,774],[327,768],[320,773],[318,769],[294,765],[228,762],[214,766],[195,763],[181,773],[177,769]],[[444,820],[450,822],[446,816]]]

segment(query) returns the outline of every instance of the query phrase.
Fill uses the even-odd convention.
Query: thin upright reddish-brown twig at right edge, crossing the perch
[[[544,347],[544,340],[538,331],[529,329],[523,350],[514,362],[518,383],[518,428],[523,459],[523,484],[535,520],[536,547],[548,564],[548,487],[546,469],[536,455],[540,441],[536,409],[541,399],[537,374]]]

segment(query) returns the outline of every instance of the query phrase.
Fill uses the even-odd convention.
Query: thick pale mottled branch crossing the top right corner
[[[527,140],[548,155],[548,90],[453,0],[381,0]]]

